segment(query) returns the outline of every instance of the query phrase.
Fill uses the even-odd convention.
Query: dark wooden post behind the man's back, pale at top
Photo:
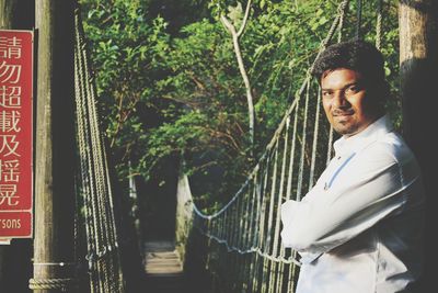
[[[435,286],[437,223],[438,3],[401,0],[400,75],[404,136],[418,158],[426,188],[425,274],[418,292]]]

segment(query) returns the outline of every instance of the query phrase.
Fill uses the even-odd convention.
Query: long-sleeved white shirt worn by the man
[[[281,205],[285,247],[301,256],[297,293],[395,293],[422,269],[419,168],[387,116],[334,144],[301,202]]]

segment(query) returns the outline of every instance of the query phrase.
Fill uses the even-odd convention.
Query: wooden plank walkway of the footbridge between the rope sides
[[[145,245],[147,292],[185,293],[183,264],[172,241],[149,241]]]

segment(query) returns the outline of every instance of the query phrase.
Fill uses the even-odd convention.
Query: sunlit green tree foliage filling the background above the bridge
[[[244,84],[230,35],[218,21],[220,13],[230,13],[234,23],[241,20],[246,1],[169,0],[168,7],[208,5],[211,11],[208,19],[181,16],[183,22],[193,22],[177,32],[169,31],[172,20],[150,14],[157,1],[81,2],[104,127],[120,177],[128,174],[128,160],[148,178],[161,160],[183,154],[199,204],[207,210],[220,207],[217,203],[234,194],[255,164],[247,158]],[[240,42],[255,99],[255,157],[264,151],[300,88],[338,2],[253,2]],[[351,1],[343,38],[355,35],[355,5]],[[369,41],[374,40],[376,11],[374,3],[364,5],[361,31]],[[382,52],[395,94],[395,4],[388,4],[384,13]],[[400,117],[395,101],[389,108]]]

